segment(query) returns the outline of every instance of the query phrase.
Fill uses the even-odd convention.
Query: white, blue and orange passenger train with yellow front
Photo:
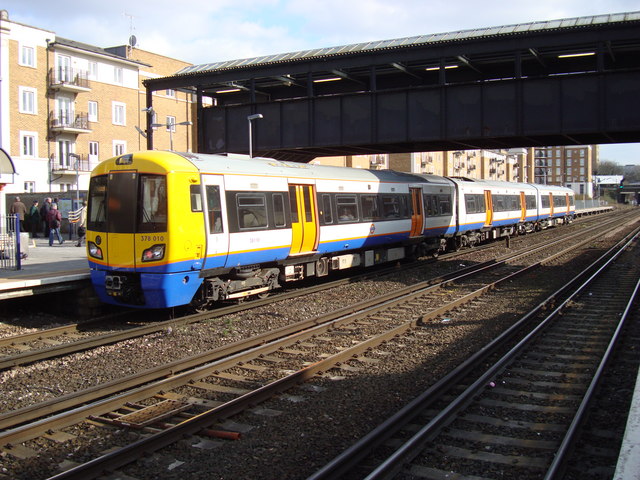
[[[202,311],[574,215],[559,186],[140,151],[91,172],[87,258],[105,303]]]

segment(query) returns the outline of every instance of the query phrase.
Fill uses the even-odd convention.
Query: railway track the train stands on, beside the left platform
[[[631,218],[633,216],[633,213],[634,212],[625,212],[622,216],[615,215],[612,218],[609,218],[606,222],[596,221],[593,220],[592,217],[587,217],[587,219],[590,219],[591,222],[585,222],[585,225],[593,223],[593,227],[586,228],[602,228],[604,230],[605,228],[610,228],[611,226],[615,225],[621,220],[624,220],[625,218]],[[588,231],[579,231],[565,234],[558,238],[556,242],[570,241],[572,238],[577,238],[578,236],[587,233]],[[510,240],[509,243],[512,249],[517,250],[517,237],[514,240]],[[480,248],[476,248],[473,251],[477,252],[481,248],[491,248],[493,246],[493,244],[489,244]],[[468,254],[468,252],[469,251],[454,252],[451,254],[443,255],[441,258],[451,259],[455,258],[456,256]],[[428,262],[428,260],[423,260],[422,263],[416,263],[413,265],[404,265],[403,268],[422,268],[425,264],[424,262]],[[208,311],[199,314],[179,316],[177,318],[171,318],[164,321],[158,321],[157,313],[149,314],[145,312],[141,313],[139,311],[127,311],[108,317],[105,316],[95,320],[85,321],[82,323],[73,323],[49,329],[42,329],[35,332],[27,332],[20,335],[0,338],[0,352],[4,353],[3,356],[0,356],[0,370],[20,365],[26,365],[36,361],[55,358],[61,355],[69,355],[71,353],[86,351],[100,346],[126,341],[132,338],[166,331],[170,328],[177,328],[192,323],[209,321],[232,313],[247,311],[252,308],[268,305],[270,303],[284,301],[290,298],[302,297],[322,290],[337,288],[346,283],[366,280],[373,276],[380,277],[382,275],[393,273],[395,271],[397,271],[396,267],[384,268],[376,270],[376,272],[373,274],[365,273],[355,277],[349,277],[322,283],[320,285],[314,285],[312,287],[298,288],[290,292],[280,292],[272,295],[271,297],[257,299],[252,302],[221,307],[214,311]],[[435,279],[434,281],[441,280],[442,279]],[[141,315],[143,317],[147,317],[147,320],[141,318]],[[101,333],[104,330],[105,324],[113,324],[114,320],[118,319],[119,321],[114,328],[115,331]],[[145,325],[140,325],[144,322],[146,322]]]

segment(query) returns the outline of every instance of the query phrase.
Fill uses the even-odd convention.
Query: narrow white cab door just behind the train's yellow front
[[[195,186],[194,186],[195,187]],[[204,268],[223,267],[229,252],[229,225],[221,175],[202,176],[202,210],[207,230]]]

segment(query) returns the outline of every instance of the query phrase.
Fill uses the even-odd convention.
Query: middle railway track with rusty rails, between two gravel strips
[[[592,240],[584,240],[590,241]],[[546,249],[557,252],[558,246],[547,246]],[[521,253],[512,256],[510,260],[517,260],[522,264],[525,255],[529,258],[537,257],[542,250],[540,248],[526,254]],[[567,255],[575,251],[574,245],[556,255]],[[546,261],[552,261],[552,258],[550,256]],[[477,284],[463,287],[462,283],[458,283],[452,289],[453,280],[446,280],[438,285],[425,283],[407,287],[405,291],[351,307],[348,312],[313,319],[304,322],[304,326],[301,322],[288,332],[272,332],[270,335],[273,340],[265,336],[254,339],[257,343],[253,346],[234,345],[224,352],[210,352],[207,358],[190,358],[182,365],[176,362],[164,367],[163,371],[154,372],[154,375],[168,378],[152,384],[148,383],[151,381],[149,376],[144,380],[130,378],[126,380],[138,382],[137,387],[132,383],[126,386],[124,383],[119,386],[114,383],[109,385],[111,391],[96,389],[90,392],[93,400],[91,396],[80,398],[74,394],[75,398],[59,399],[57,402],[60,403],[47,402],[46,405],[30,407],[28,415],[24,409],[8,412],[0,417],[0,422],[3,422],[0,425],[7,429],[0,433],[0,444],[5,445],[5,452],[8,454],[28,456],[30,452],[28,447],[22,446],[23,442],[38,435],[53,435],[51,432],[60,432],[88,417],[92,422],[115,423],[120,427],[152,433],[150,437],[120,449],[119,453],[100,456],[61,474],[60,478],[90,478],[99,475],[107,468],[106,465],[108,468],[116,468],[129,463],[139,455],[140,449],[152,451],[186,434],[210,434],[210,426],[220,419],[244,411],[301,381],[326,372],[336,364],[353,359],[354,356],[366,364],[367,357],[362,355],[363,352],[415,328],[416,325],[428,323],[430,319],[442,316],[453,308],[461,308],[464,304],[467,305],[465,308],[482,308],[477,300],[482,293],[496,288],[498,283],[511,281],[516,275],[514,267],[508,266],[506,260],[499,264],[484,265],[483,276],[487,276],[489,268],[502,268],[502,279],[494,279],[489,285],[480,287]],[[531,271],[532,267],[518,270]],[[464,278],[469,276],[470,272],[462,275]],[[457,280],[460,282],[460,279]],[[433,292],[438,292],[435,304]],[[443,292],[444,296],[451,298],[441,306]],[[411,316],[412,312],[417,311],[429,313],[406,320],[408,314]],[[358,343],[354,345],[356,341]],[[234,348],[237,350],[233,350]],[[219,357],[216,358],[215,355]],[[191,365],[187,366],[187,363]],[[116,397],[110,396],[127,389],[133,390]],[[88,395],[89,392],[84,394]],[[220,399],[230,395],[235,396],[228,401]],[[42,417],[43,414],[54,412],[60,413],[53,417]]]

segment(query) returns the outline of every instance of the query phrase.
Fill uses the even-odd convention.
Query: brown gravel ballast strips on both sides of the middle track
[[[553,233],[521,238],[538,242],[543,235]],[[496,250],[503,249],[500,243],[495,249],[470,251],[462,258],[427,264],[424,269],[411,270],[408,274],[399,271],[379,280],[346,285],[248,313],[0,372],[0,412],[314,317],[469,262],[493,258]],[[592,253],[597,251],[594,245]],[[351,361],[349,365],[358,367],[359,371],[335,369],[266,402],[260,407],[270,409],[268,414],[256,409],[234,417],[235,425],[227,426],[244,432],[239,441],[188,438],[123,471],[139,479],[306,478],[519,318],[525,304],[541,299],[540,284],[545,288],[561,285],[579,263],[545,267],[539,274],[540,282],[514,281],[506,295],[493,302],[490,309],[471,309],[464,317],[454,313],[446,323],[416,329],[372,352],[370,357],[380,362]],[[39,443],[42,440],[31,442],[30,446],[41,449],[42,454],[22,462],[0,457],[0,477],[4,473],[16,479],[46,478],[56,473],[57,465],[70,457],[88,459],[101,451],[104,429],[91,425],[74,428],[85,429],[94,441],[85,440],[73,444],[73,448],[67,444]],[[138,434],[118,431],[115,435],[131,440]]]

